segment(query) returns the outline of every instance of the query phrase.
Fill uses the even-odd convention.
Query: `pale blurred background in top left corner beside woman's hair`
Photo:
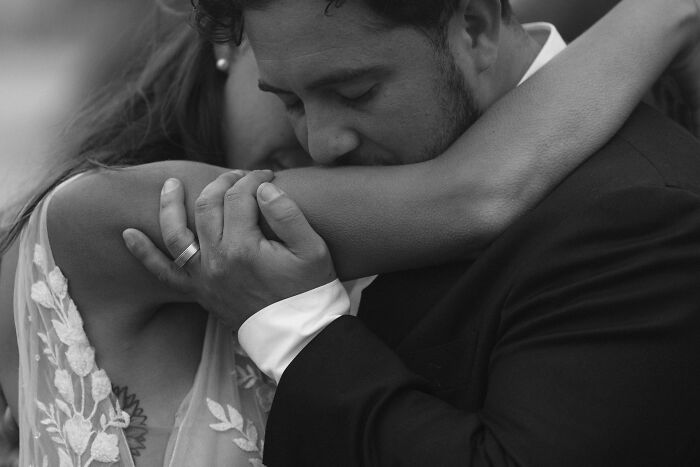
[[[47,166],[77,106],[157,34],[158,3],[0,0],[0,212]]]

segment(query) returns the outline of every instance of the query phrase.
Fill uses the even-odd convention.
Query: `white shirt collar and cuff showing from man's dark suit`
[[[518,86],[566,48],[557,29],[549,23],[523,26],[542,49]],[[344,315],[357,315],[362,291],[374,277],[324,286],[273,303],[254,314],[238,330],[241,347],[260,370],[279,383],[284,370],[299,352],[326,326]]]

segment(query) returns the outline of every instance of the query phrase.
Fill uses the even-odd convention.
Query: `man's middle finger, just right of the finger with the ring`
[[[197,198],[194,220],[203,248],[218,245],[221,241],[224,229],[224,195],[246,173],[243,170],[233,170],[219,175],[204,187]]]

